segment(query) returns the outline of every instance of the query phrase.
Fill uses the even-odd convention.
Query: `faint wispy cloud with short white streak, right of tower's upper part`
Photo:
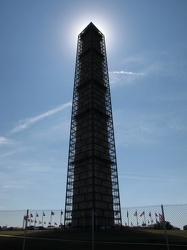
[[[177,75],[177,66],[168,61],[167,51],[147,51],[121,59],[117,69],[110,71],[111,86],[137,83],[142,77],[171,77]],[[124,70],[125,69],[125,70]]]

